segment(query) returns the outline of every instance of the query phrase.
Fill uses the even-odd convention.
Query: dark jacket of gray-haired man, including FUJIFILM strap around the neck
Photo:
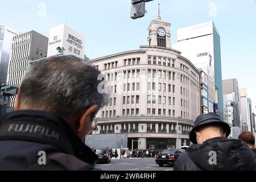
[[[39,151],[68,170],[90,169],[97,157],[68,123],[54,114],[20,110],[0,118],[0,170],[27,170],[38,164]]]

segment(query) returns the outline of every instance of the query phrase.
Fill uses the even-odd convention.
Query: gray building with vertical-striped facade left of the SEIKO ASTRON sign
[[[28,67],[28,61],[47,57],[48,38],[35,31],[28,31],[13,37],[10,61],[7,73],[7,84],[19,87]],[[11,98],[11,107],[15,97]]]

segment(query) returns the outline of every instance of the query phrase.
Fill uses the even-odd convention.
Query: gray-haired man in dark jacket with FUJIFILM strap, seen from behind
[[[100,72],[75,56],[38,61],[23,78],[13,113],[0,119],[0,170],[87,170],[96,155],[82,140],[108,94]]]

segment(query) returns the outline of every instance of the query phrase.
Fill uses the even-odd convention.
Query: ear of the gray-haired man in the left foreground
[[[81,116],[81,118],[79,119],[79,130],[78,130],[78,134],[79,137],[83,140],[85,138],[85,135],[90,133],[90,131],[92,130],[92,115],[95,113],[95,111],[97,110],[98,105],[93,105],[90,106]]]

